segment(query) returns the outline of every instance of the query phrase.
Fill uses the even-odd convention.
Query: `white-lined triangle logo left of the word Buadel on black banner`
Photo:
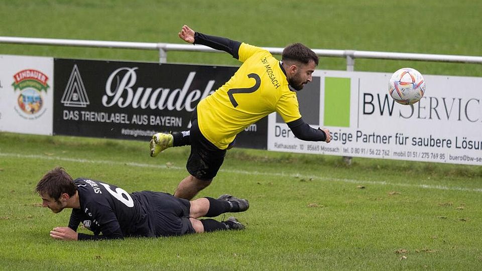
[[[74,65],[72,73],[70,73],[69,81],[65,87],[61,102],[64,106],[86,107],[90,104],[87,91],[85,91],[84,82],[80,77],[77,65]]]

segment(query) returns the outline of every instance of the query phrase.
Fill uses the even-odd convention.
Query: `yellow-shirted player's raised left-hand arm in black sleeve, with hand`
[[[209,36],[199,32],[194,32],[188,26],[184,25],[179,32],[179,38],[187,43],[201,44],[216,50],[229,53],[233,58],[239,59],[238,51],[241,43],[227,38]]]

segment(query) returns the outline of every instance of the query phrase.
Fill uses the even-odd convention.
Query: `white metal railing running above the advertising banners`
[[[22,37],[0,37],[0,43],[157,50],[159,51],[159,63],[167,62],[168,51],[191,51],[191,52],[195,51],[195,52],[213,52],[213,53],[221,52],[203,45],[176,44],[176,43],[91,41],[91,40],[66,40],[66,39],[43,39],[43,38],[22,38]],[[267,49],[272,54],[278,54],[278,55],[280,55],[283,51],[283,48],[279,48],[279,47],[263,47],[263,48]],[[354,70],[354,60],[356,58],[482,64],[482,57],[480,56],[434,55],[434,54],[372,52],[372,51],[356,51],[356,50],[328,50],[328,49],[313,49],[313,51],[318,56],[345,58],[347,71]]]

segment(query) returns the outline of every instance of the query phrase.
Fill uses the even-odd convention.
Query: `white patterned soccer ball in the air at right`
[[[402,68],[393,73],[388,85],[392,98],[404,105],[418,102],[425,93],[425,80],[415,69]]]

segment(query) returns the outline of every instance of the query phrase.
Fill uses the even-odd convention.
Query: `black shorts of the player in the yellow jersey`
[[[216,176],[224,161],[226,150],[217,148],[209,142],[197,124],[197,110],[191,119],[191,154],[187,160],[187,171],[199,180],[210,180]]]

